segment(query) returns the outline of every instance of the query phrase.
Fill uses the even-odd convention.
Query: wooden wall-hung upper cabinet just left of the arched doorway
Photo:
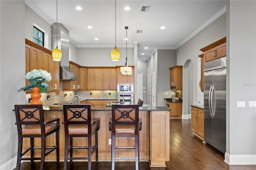
[[[182,65],[170,67],[170,89],[182,90]]]

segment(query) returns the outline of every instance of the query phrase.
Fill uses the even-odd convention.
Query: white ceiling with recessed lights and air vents
[[[25,3],[50,25],[56,23],[56,0]],[[142,12],[142,6],[150,8]],[[128,26],[128,47],[138,43],[138,60],[147,60],[156,49],[177,49],[224,12],[224,0],[116,0],[116,47],[126,47]],[[58,0],[58,23],[76,47],[115,47],[115,0]]]

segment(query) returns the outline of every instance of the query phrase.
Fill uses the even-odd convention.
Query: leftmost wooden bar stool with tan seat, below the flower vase
[[[21,160],[40,160],[40,170],[44,169],[44,158],[56,150],[56,161],[59,162],[59,119],[44,121],[42,105],[14,105],[18,129],[18,157],[16,170],[20,169]],[[56,123],[54,123],[56,122]],[[56,146],[46,147],[46,136],[56,132]],[[41,147],[34,147],[34,138],[41,138]],[[30,147],[22,152],[23,138],[30,138]],[[41,157],[34,157],[34,149],[41,149]],[[49,150],[50,149],[50,150]],[[46,152],[48,150],[48,152]],[[30,151],[30,158],[22,158]]]

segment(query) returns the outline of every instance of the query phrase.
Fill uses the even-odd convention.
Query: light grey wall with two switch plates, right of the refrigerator
[[[256,1],[227,6],[227,154],[230,164],[256,164]],[[239,24],[238,24],[239,23]],[[237,108],[236,101],[245,101]]]

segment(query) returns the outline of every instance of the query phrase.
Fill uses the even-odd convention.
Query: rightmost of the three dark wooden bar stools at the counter
[[[139,131],[141,128],[139,105],[112,105],[112,118],[109,119],[112,170],[115,169],[115,160],[135,160],[136,170],[139,169]],[[134,137],[135,146],[116,146],[116,137]],[[135,157],[116,157],[115,149],[135,149]]]

